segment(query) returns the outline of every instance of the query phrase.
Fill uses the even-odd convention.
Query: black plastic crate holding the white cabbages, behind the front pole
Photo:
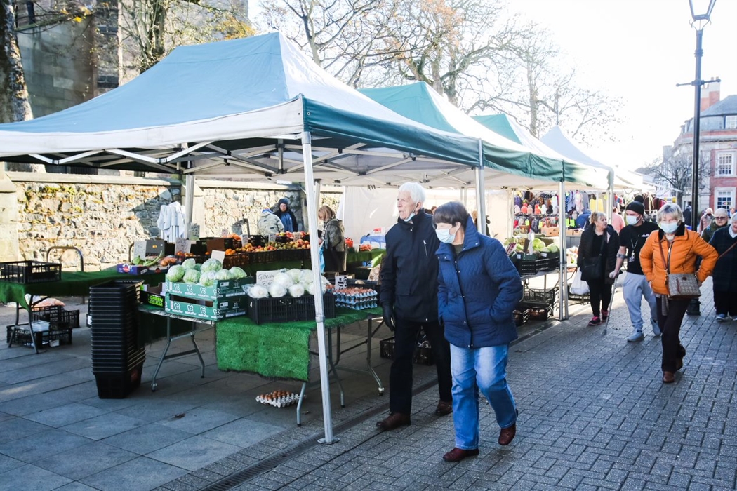
[[[335,317],[335,296],[323,295],[326,319]],[[248,300],[248,317],[256,322],[294,322],[315,319],[315,297],[305,294],[302,297],[251,298]]]

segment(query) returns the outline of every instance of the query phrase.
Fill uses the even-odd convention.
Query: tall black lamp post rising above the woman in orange
[[[701,47],[704,27],[709,24],[711,11],[714,9],[716,0],[688,0],[691,6],[691,27],[696,29],[696,78],[694,82],[694,170],[693,183],[691,183],[691,229],[696,230],[699,219],[699,133],[701,130],[701,57],[704,51]]]

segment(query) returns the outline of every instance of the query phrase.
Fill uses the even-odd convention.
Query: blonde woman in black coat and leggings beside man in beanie
[[[587,259],[593,260],[601,256],[599,269],[593,272],[593,277],[581,278],[589,285],[591,299],[591,311],[593,317],[589,325],[599,325],[609,317],[609,301],[612,300],[612,283],[609,273],[614,271],[617,263],[617,251],[619,250],[619,236],[614,227],[607,225],[607,216],[595,211],[590,216],[590,226],[581,233],[581,244],[579,244],[578,266],[587,263]],[[583,270],[581,270],[583,272]]]

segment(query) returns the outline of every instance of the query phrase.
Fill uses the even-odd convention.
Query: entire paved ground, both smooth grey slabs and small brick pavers
[[[298,428],[290,409],[243,403],[240,396],[252,401],[273,387],[218,372],[212,351],[205,379],[193,376],[196,361],[180,358],[164,364],[156,394],[99,400],[88,365],[69,354],[84,349],[76,341],[39,356],[5,349],[0,490],[734,490],[737,321],[714,319],[710,280],[702,292],[702,315],[685,319],[688,354],[671,385],[660,381],[652,331],[643,342],[625,341],[631,327],[621,289],[606,336],[587,327],[585,305],[566,321],[523,330],[531,336],[511,348],[509,363],[517,437],[497,445],[494,414],[483,404],[481,454],[456,464],[441,459],[453,448],[453,420],[433,414],[432,367],[416,366],[413,423],[391,432],[374,426],[388,398],[355,375],[345,384],[346,408],[332,398],[339,441],[321,445],[318,388]],[[376,360],[386,384],[388,362]],[[155,363],[147,360],[144,381]],[[184,420],[172,419],[184,411]]]

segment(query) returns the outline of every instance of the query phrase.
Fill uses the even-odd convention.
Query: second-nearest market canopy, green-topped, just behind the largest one
[[[492,170],[486,172],[486,186],[550,187],[552,183],[565,180],[565,157],[539,142],[536,144],[534,141],[506,138],[507,135],[489,130],[447,102],[425,82],[360,91],[414,121],[438,130],[481,139],[485,165]],[[500,149],[517,153],[500,152]],[[586,166],[573,164],[568,170],[572,179],[570,182],[606,187],[607,176],[604,173],[590,172]]]

